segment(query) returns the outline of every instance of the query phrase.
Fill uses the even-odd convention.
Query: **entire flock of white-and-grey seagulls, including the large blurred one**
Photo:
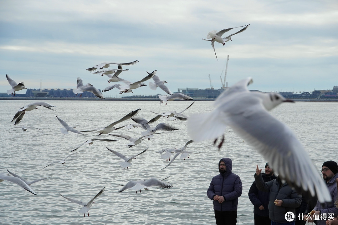
[[[241,30],[228,35],[226,37],[222,38],[222,35],[230,31],[234,28],[239,27],[233,27],[228,29],[223,29],[219,32],[212,31],[209,32],[207,38],[210,39],[203,39],[207,41],[211,41],[212,48],[214,49],[215,56],[217,59],[216,51],[214,48],[214,43],[219,42],[225,45],[225,42],[232,40],[231,36],[238,34],[240,32],[243,32],[248,28],[249,25],[241,26],[244,27]],[[218,59],[217,59],[218,61]],[[132,92],[132,90],[146,86],[144,83],[147,80],[152,79],[153,82],[149,82],[149,87],[152,90],[156,90],[157,87],[162,89],[164,92],[166,92],[166,95],[160,95],[160,104],[167,105],[168,101],[173,101],[175,99],[179,100],[193,100],[191,97],[184,95],[182,93],[172,93],[169,88],[165,85],[166,81],[161,81],[161,79],[155,75],[156,70],[154,70],[152,73],[148,73],[148,75],[136,82],[129,82],[127,80],[122,79],[119,77],[119,75],[122,73],[122,71],[128,71],[128,69],[123,69],[122,65],[134,65],[137,63],[138,60],[135,60],[133,62],[129,63],[100,63],[98,65],[95,65],[91,68],[87,68],[87,71],[92,72],[93,74],[99,74],[101,76],[106,75],[110,82],[122,82],[123,84],[116,84],[109,86],[102,90],[109,91],[113,88],[117,88],[121,93],[127,93]],[[118,65],[117,69],[107,69],[102,70],[103,68],[108,68],[111,65]],[[11,86],[11,89],[7,91],[7,94],[15,95],[15,91],[19,91],[22,89],[26,89],[23,82],[20,82],[17,84],[14,80],[12,80],[8,74],[6,75],[6,78]],[[159,123],[154,127],[151,127],[149,124],[156,122],[160,118],[171,118],[171,119],[178,119],[182,120],[182,122],[187,121],[187,128],[188,133],[191,138],[191,140],[187,141],[183,147],[180,148],[164,148],[160,151],[156,151],[157,153],[161,154],[162,159],[169,160],[169,163],[166,167],[167,168],[179,155],[181,159],[189,158],[189,154],[192,153],[201,153],[201,152],[191,152],[187,151],[187,146],[193,142],[201,142],[208,139],[214,139],[215,142],[222,137],[220,143],[218,144],[218,147],[221,148],[223,141],[224,141],[224,130],[227,128],[227,126],[230,126],[234,132],[243,138],[244,141],[246,141],[249,145],[257,149],[264,157],[265,159],[271,164],[272,168],[285,180],[287,180],[290,184],[303,189],[304,191],[310,192],[312,196],[317,196],[319,202],[329,202],[331,201],[331,196],[329,194],[329,191],[327,187],[325,186],[324,182],[322,182],[322,178],[319,176],[319,174],[316,171],[315,166],[310,160],[310,157],[308,156],[307,152],[303,148],[303,146],[300,144],[298,139],[296,138],[295,134],[292,132],[290,128],[283,122],[277,120],[275,117],[273,117],[268,111],[275,108],[276,106],[280,105],[284,102],[292,102],[291,100],[285,99],[282,95],[277,93],[261,93],[261,92],[250,92],[247,89],[247,86],[252,83],[251,78],[246,78],[244,80],[239,81],[232,87],[228,88],[226,91],[224,91],[215,101],[216,109],[210,113],[201,113],[201,114],[193,114],[190,117],[187,117],[186,115],[182,114],[185,110],[189,109],[193,104],[190,104],[186,109],[180,112],[176,111],[169,111],[164,113],[155,113],[157,114],[154,118],[150,119],[149,121],[142,118],[137,117],[136,115],[139,113],[141,109],[137,109],[134,111],[131,111],[130,113],[126,114],[121,119],[103,127],[103,128],[96,128],[86,131],[77,131],[75,130],[75,127],[69,126],[64,120],[59,118],[56,115],[56,118],[58,121],[63,125],[64,128],[61,128],[61,132],[63,134],[68,134],[68,132],[73,132],[75,134],[84,135],[83,133],[92,132],[92,134],[100,135],[111,135],[114,137],[123,138],[129,141],[129,144],[126,144],[127,146],[135,146],[137,144],[140,144],[142,140],[144,139],[150,139],[153,138],[154,135],[162,134],[165,132],[174,132],[175,130],[178,130],[179,128],[167,124],[167,123]],[[82,79],[77,78],[77,86],[76,89],[73,89],[73,92],[75,94],[83,93],[84,91],[91,92],[95,94],[100,99],[104,99],[102,93],[95,88],[90,83],[87,83],[86,85],[83,85]],[[18,112],[15,114],[14,118],[11,122],[15,120],[14,125],[17,125],[21,122],[23,119],[23,116],[26,111],[31,111],[34,109],[38,109],[38,106],[43,106],[47,109],[53,110],[52,107],[55,107],[53,105],[50,105],[45,102],[36,102],[28,104],[18,110]],[[154,113],[154,112],[153,112]],[[132,120],[135,123],[123,125],[119,128],[115,128],[115,125],[118,123]],[[19,126],[18,126],[19,127]],[[22,127],[23,130],[27,130],[28,127],[25,127],[24,125]],[[134,128],[142,128],[144,131],[141,132],[140,136],[137,138],[131,138],[128,135],[125,134],[112,134],[113,131],[119,130],[119,129],[134,129]],[[39,129],[40,130],[40,129]],[[157,133],[157,131],[162,131],[161,133]],[[66,159],[70,156],[72,156],[75,153],[78,153],[82,150],[78,150],[82,145],[88,144],[92,145],[94,141],[105,141],[105,142],[116,142],[120,140],[115,139],[89,139],[82,144],[80,144],[77,148],[72,149],[72,153],[69,154],[66,158],[64,158],[61,161],[54,161],[50,163],[49,165],[45,166],[42,169],[45,169],[46,167],[54,164],[54,163],[60,163],[64,164],[66,162]],[[134,154],[131,157],[126,157],[124,154],[113,150],[112,148],[106,147],[111,153],[116,155],[117,157],[121,158],[123,162],[120,162],[119,165],[122,168],[127,168],[132,165],[132,160],[136,159],[136,157],[139,157],[141,154],[148,151],[148,148],[144,149],[142,152],[139,152],[137,154]],[[78,150],[78,151],[76,151]],[[174,155],[174,157],[171,159],[171,156]],[[163,170],[161,169],[161,170]],[[290,173],[289,171],[297,171],[296,173]],[[9,172],[9,171],[8,171]],[[47,177],[49,178],[49,177]],[[22,177],[14,174],[14,173],[0,173],[0,182],[1,181],[10,181],[13,182],[19,186],[21,186],[26,191],[36,195],[36,193],[30,188],[30,185],[34,182],[38,182],[47,178],[42,178],[38,180],[34,180],[31,182],[27,182]],[[165,178],[166,179],[166,178]],[[164,179],[163,179],[164,180]],[[118,192],[123,192],[127,189],[131,189],[136,191],[140,191],[142,189],[147,190],[149,187],[161,187],[161,188],[171,188],[172,185],[169,185],[168,182],[165,182],[163,180],[160,180],[158,178],[150,178],[147,180],[140,179],[140,180],[130,180],[127,182],[126,185],[123,186]],[[87,213],[89,216],[88,211],[90,210],[92,204],[94,203],[94,200],[100,196],[105,190],[105,187],[99,191],[94,198],[92,198],[89,202],[82,202],[78,201],[69,197],[66,197],[59,193],[60,196],[66,198],[67,200],[77,203],[79,205],[83,205],[83,208],[81,208],[78,212],[83,214]]]

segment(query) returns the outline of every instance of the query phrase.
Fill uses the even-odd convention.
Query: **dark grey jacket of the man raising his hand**
[[[287,183],[282,184],[280,187],[278,178],[264,182],[262,174],[257,176],[255,173],[255,181],[258,190],[270,192],[268,205],[270,220],[278,223],[287,223],[288,221],[285,219],[285,214],[288,212],[292,212],[294,215],[296,214],[295,208],[300,206],[302,200],[301,195],[292,190]],[[276,199],[283,200],[282,206],[276,206],[273,203]]]

